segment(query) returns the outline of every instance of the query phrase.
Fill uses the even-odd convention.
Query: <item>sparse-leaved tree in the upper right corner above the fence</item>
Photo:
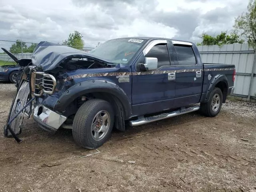
[[[256,0],[249,1],[247,12],[236,18],[234,28],[256,49]]]

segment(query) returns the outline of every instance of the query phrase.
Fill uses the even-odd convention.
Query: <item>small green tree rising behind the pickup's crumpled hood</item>
[[[76,49],[82,49],[84,46],[84,41],[82,40],[82,34],[78,31],[70,33],[67,40],[64,40],[62,44],[71,46]]]

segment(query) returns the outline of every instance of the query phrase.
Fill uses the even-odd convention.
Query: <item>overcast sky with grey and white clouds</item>
[[[61,2],[61,3],[58,3]],[[0,0],[0,40],[61,42],[78,30],[87,43],[125,36],[198,42],[230,30],[248,0]]]

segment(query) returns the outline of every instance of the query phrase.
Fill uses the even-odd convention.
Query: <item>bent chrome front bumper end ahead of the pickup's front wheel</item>
[[[33,118],[42,129],[48,132],[56,132],[67,119],[66,116],[60,115],[43,105],[37,105],[34,108]]]

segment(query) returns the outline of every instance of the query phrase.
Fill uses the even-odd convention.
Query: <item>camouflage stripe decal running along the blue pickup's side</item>
[[[234,70],[234,68],[213,68],[205,69],[204,71],[224,71],[224,70]],[[182,70],[156,70],[156,71],[146,71],[146,72],[111,72],[111,73],[91,73],[91,74],[78,74],[72,75],[64,79],[64,81],[85,78],[85,77],[103,77],[103,76],[122,76],[122,75],[150,75],[150,74],[166,74],[166,73],[183,73],[183,72],[196,72],[202,71],[202,69],[182,69]]]

